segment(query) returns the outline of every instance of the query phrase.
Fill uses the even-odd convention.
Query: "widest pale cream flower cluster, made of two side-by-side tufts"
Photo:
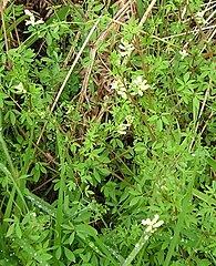
[[[126,88],[126,81],[122,82],[120,79],[113,82],[112,89],[117,92],[119,95],[121,95],[123,99],[127,99],[127,93],[130,93],[132,96],[140,95],[143,96],[144,91],[150,89],[150,85],[146,84],[147,81],[144,80],[141,75],[136,76],[132,80],[132,83],[128,86],[128,92]]]

